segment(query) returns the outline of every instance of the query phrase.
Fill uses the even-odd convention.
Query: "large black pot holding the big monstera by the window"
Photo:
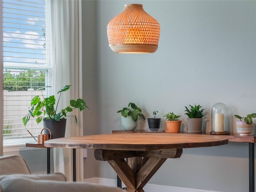
[[[48,128],[51,131],[51,139],[65,137],[66,121],[66,119],[61,119],[60,121],[43,119],[44,128]],[[50,132],[47,129],[44,129],[44,134],[50,135]]]

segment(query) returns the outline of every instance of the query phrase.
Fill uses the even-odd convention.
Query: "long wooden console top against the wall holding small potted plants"
[[[160,133],[163,133],[165,131],[161,131]],[[126,130],[113,130],[113,134],[115,133],[122,133],[122,134],[127,134],[127,133],[158,133],[158,132],[153,132],[153,131],[148,131],[148,130],[134,130],[134,131],[126,131]],[[166,134],[172,134],[172,133],[166,133]],[[180,134],[187,134],[186,132],[182,132]],[[196,134],[193,134],[196,135]],[[200,134],[202,135],[202,134]],[[211,135],[211,134],[206,134],[206,135]],[[212,135],[213,137],[216,135]],[[250,136],[240,136],[239,134],[229,134],[229,135],[223,135],[228,138],[229,142],[246,142],[246,143],[256,143],[256,135],[250,135]]]

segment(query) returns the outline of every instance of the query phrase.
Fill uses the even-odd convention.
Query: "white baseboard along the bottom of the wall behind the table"
[[[105,178],[88,178],[85,179],[84,182],[89,183],[97,183],[104,186],[116,186],[116,180],[114,179],[105,179]],[[122,184],[124,187],[124,184]],[[209,191],[209,190],[197,190],[197,189],[189,189],[189,188],[180,188],[180,187],[172,187],[165,185],[156,185],[156,184],[146,184],[143,188],[146,192],[217,192],[217,191]]]

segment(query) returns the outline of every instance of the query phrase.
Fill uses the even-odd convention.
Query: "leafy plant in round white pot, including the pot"
[[[122,110],[119,110],[118,113],[121,113],[122,127],[127,131],[133,131],[136,129],[138,116],[145,120],[145,116],[142,114],[142,109],[132,102],[128,104],[128,107],[124,107]]]

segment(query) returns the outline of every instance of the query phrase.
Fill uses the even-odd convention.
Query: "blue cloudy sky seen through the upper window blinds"
[[[3,0],[4,65],[46,64],[44,0]]]

